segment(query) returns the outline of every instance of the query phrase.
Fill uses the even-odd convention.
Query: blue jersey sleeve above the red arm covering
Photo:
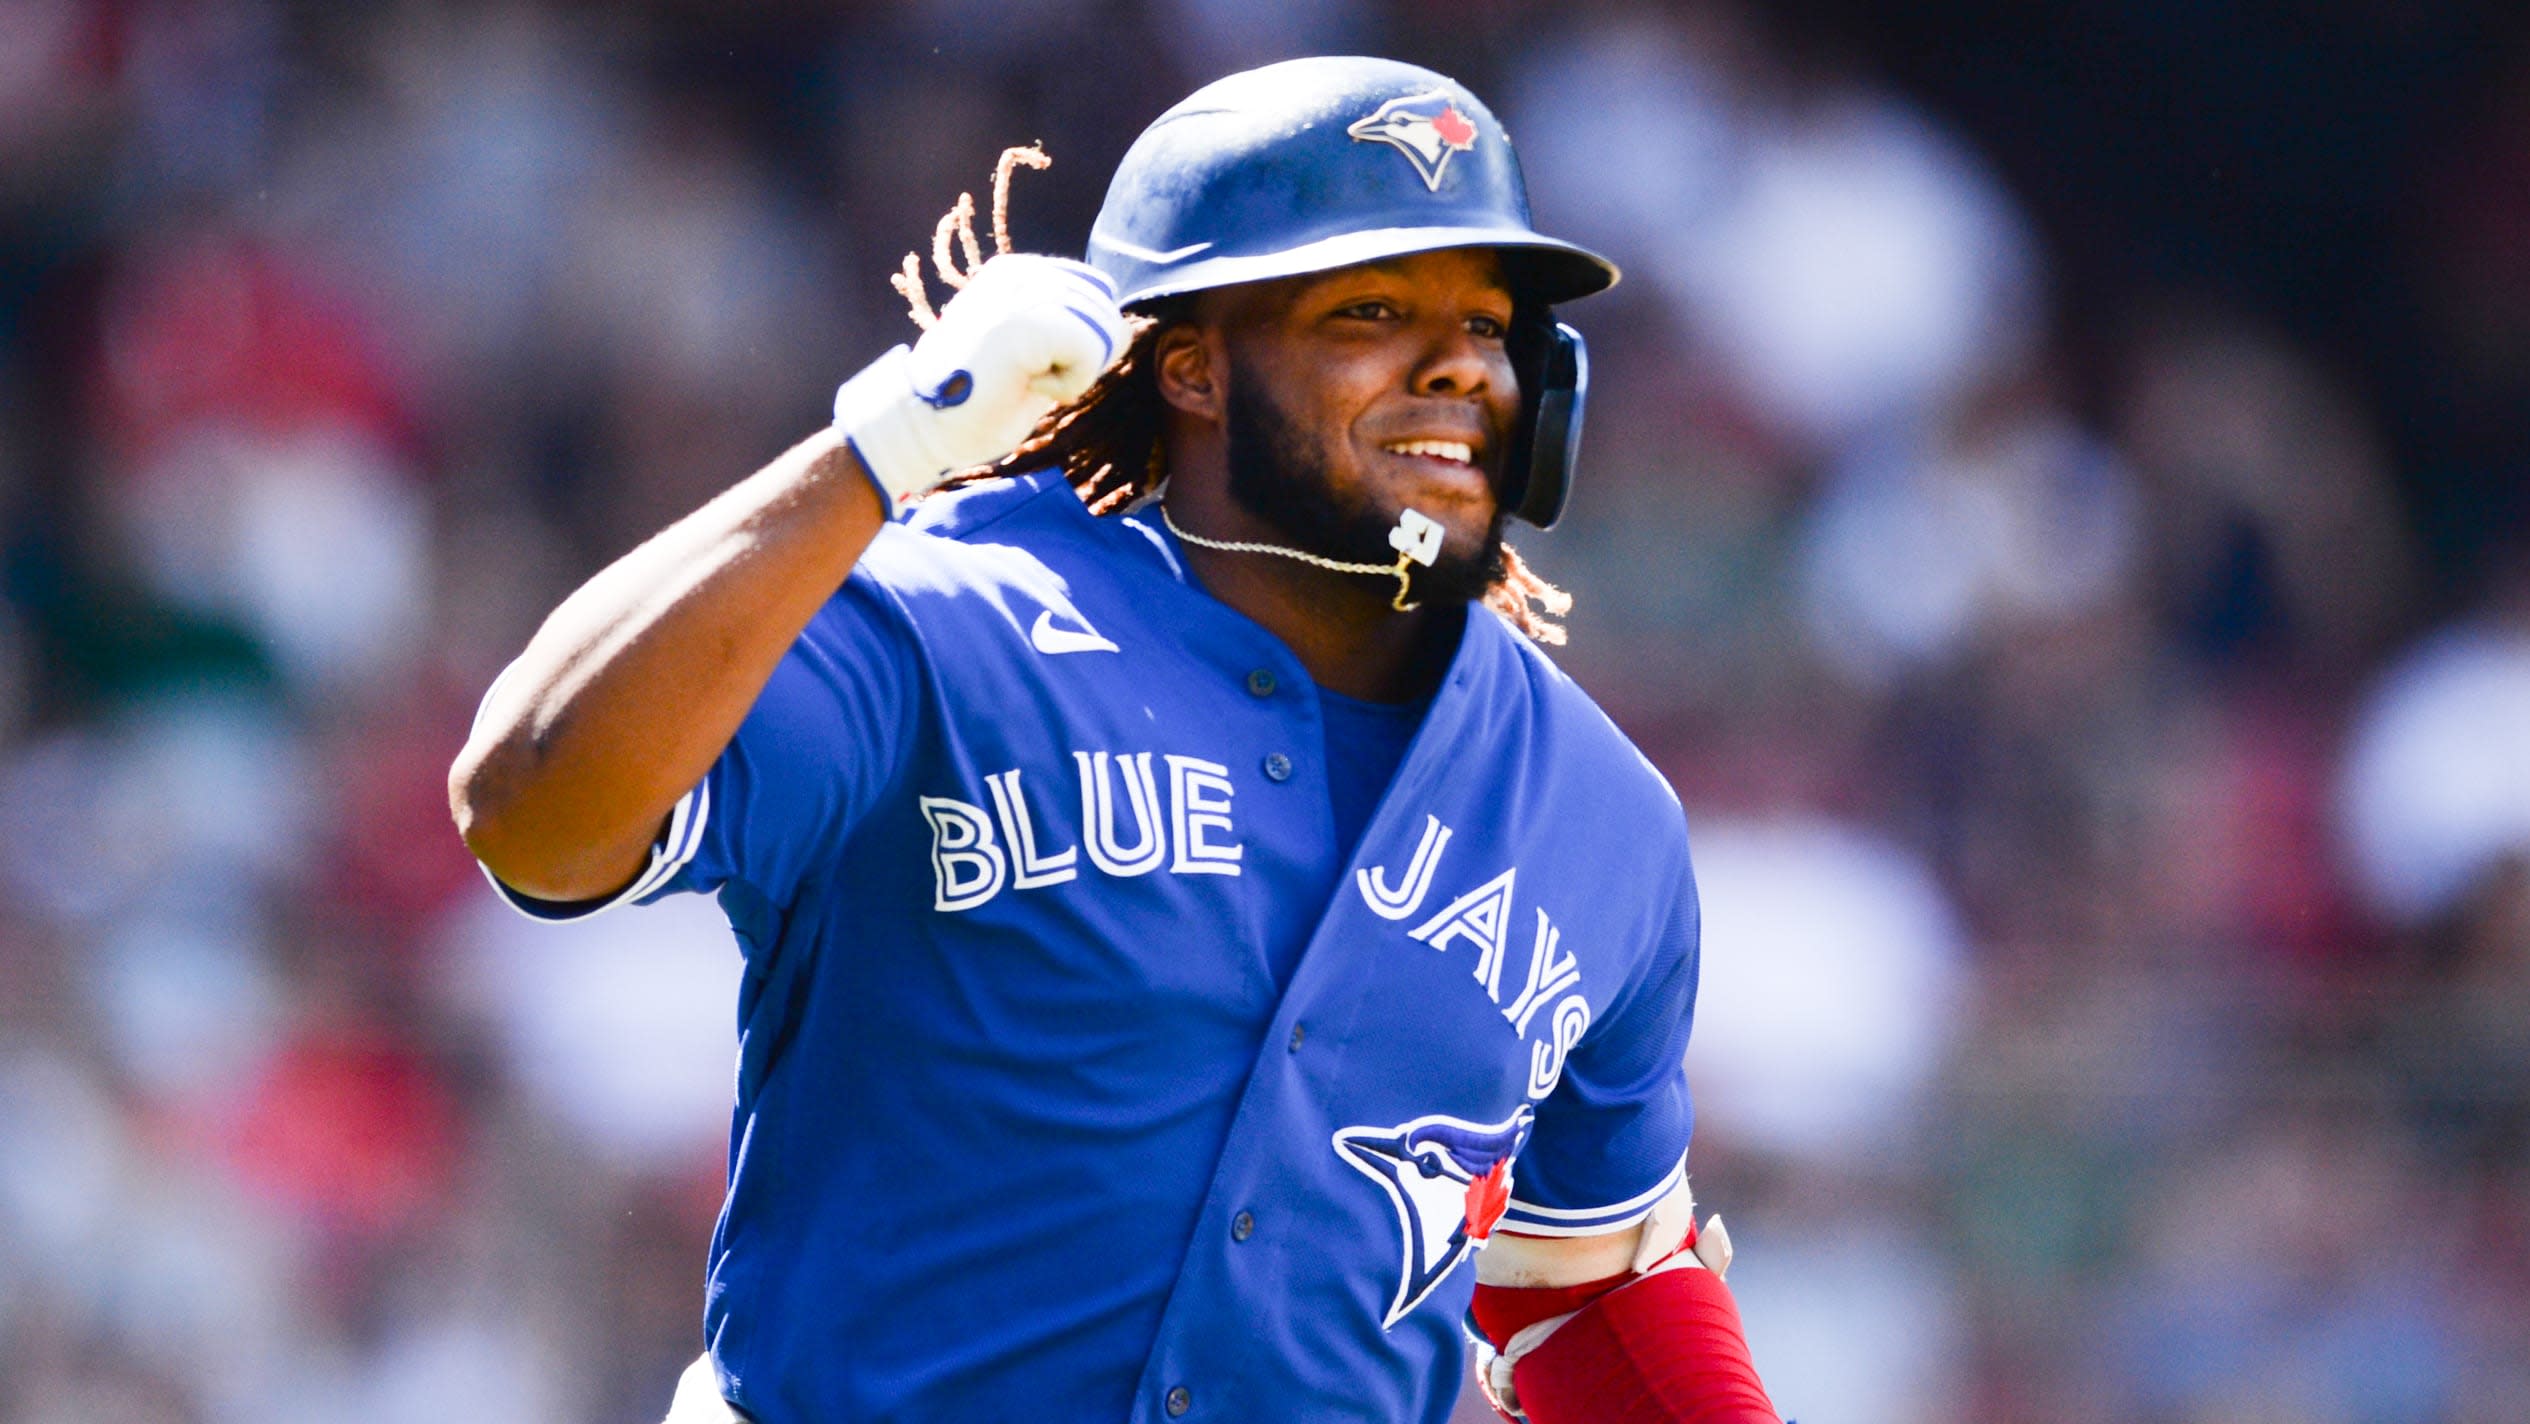
[[[1503,1227],[1591,1237],[1639,1222],[1688,1171],[1688,1027],[1695,1019],[1700,911],[1680,842],[1650,954],[1564,1060],[1513,1166]]]

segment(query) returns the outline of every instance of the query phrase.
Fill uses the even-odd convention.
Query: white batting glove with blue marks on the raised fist
[[[893,511],[954,470],[1017,450],[1123,347],[1106,276],[1068,258],[1004,253],[974,271],[911,349],[896,347],[842,382],[835,430]]]

